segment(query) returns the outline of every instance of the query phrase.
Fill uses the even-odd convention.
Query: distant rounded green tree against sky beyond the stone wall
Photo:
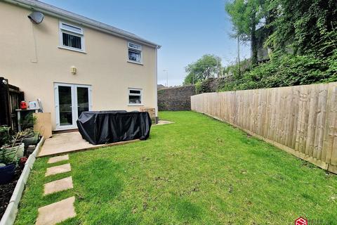
[[[195,84],[209,77],[219,77],[221,59],[214,55],[204,55],[197,62],[187,65],[185,71],[188,75],[185,77],[184,84]]]

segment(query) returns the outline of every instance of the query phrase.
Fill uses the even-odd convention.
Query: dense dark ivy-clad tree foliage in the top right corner
[[[317,57],[330,56],[336,49],[336,0],[269,0],[275,20],[267,44],[282,53]]]

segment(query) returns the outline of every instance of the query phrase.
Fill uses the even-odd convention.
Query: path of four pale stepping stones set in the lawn
[[[50,158],[48,164],[61,162],[69,160],[69,155],[61,155]],[[72,168],[70,163],[59,165],[55,167],[48,167],[45,176],[51,176],[55,174],[61,174],[65,172],[70,172]],[[51,181],[44,184],[44,196],[52,193],[57,193],[59,191],[65,191],[74,188],[72,184],[72,176],[68,176],[63,179],[56,181]],[[44,207],[40,207],[38,212],[36,225],[55,225],[66,219],[76,217],[76,212],[74,208],[75,197],[66,198],[65,200],[60,200],[57,203],[52,203]]]

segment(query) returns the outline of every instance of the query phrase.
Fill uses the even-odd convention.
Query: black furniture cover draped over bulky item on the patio
[[[122,110],[83,112],[77,120],[82,138],[93,145],[146,140],[150,136],[151,125],[149,113]]]

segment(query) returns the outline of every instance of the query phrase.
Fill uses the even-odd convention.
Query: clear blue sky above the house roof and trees
[[[161,45],[158,84],[181,85],[185,67],[204,54],[214,54],[223,65],[234,63],[237,42],[226,0],[40,0],[67,11],[126,30]],[[240,56],[249,58],[241,44]]]

